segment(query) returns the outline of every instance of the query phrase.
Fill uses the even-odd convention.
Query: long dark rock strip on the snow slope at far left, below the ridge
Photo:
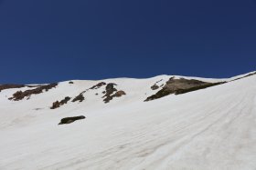
[[[22,91],[17,91],[13,97],[10,97],[9,100],[15,100],[15,101],[18,101],[18,100],[22,100],[24,97],[29,97],[30,95],[37,95],[37,94],[41,94],[43,93],[43,90],[46,90],[48,91],[49,89],[51,88],[54,88],[56,87],[58,84],[55,83],[55,84],[49,84],[49,85],[40,85],[38,86],[37,88],[35,89],[31,89],[31,90],[26,90],[24,92]]]

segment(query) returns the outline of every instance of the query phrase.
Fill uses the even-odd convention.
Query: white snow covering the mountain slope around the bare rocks
[[[54,110],[56,100],[101,81],[62,82],[21,101],[8,97],[30,88],[3,90],[0,169],[256,169],[256,75],[143,102],[172,76],[103,80],[126,95],[104,104],[100,87]],[[86,119],[58,125],[76,115]]]

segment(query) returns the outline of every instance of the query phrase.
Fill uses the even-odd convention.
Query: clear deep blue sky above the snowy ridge
[[[255,0],[0,0],[0,84],[255,66]]]

